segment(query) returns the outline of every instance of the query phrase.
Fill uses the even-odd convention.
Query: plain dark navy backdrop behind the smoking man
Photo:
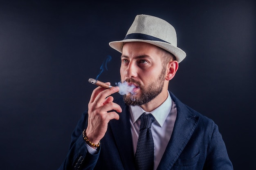
[[[119,81],[108,42],[141,13],[170,22],[187,53],[170,90],[218,124],[234,169],[255,169],[254,0],[1,2],[0,169],[61,165],[95,88],[88,78],[111,55],[99,79]]]

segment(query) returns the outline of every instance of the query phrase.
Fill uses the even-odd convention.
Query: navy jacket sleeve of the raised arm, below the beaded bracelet
[[[91,155],[88,152],[82,135],[83,130],[87,127],[87,124],[88,113],[85,112],[72,132],[67,157],[58,170],[93,170],[99,158],[101,146],[99,147],[98,153],[95,155]]]

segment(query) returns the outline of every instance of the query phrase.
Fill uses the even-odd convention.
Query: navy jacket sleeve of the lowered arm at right
[[[227,148],[216,124],[213,128],[204,170],[233,170]]]

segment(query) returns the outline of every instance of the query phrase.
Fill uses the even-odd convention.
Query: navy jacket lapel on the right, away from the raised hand
[[[180,102],[172,93],[170,94],[177,107],[177,118],[171,139],[168,142],[157,170],[167,170],[173,167],[173,164],[180,156],[182,150],[193,134],[199,120],[199,117],[193,115],[182,102]]]

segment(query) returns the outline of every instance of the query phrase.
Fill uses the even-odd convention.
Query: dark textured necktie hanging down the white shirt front
[[[151,114],[143,113],[140,120],[139,138],[135,152],[136,168],[137,170],[153,170],[154,141],[150,128],[155,118]]]

